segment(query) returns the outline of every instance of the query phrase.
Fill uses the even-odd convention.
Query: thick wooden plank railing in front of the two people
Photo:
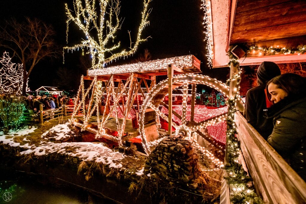
[[[238,139],[254,187],[265,203],[306,203],[306,183],[287,162],[235,113]],[[293,127],[294,128],[294,127]]]

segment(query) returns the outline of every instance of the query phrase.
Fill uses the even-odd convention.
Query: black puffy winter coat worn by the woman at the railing
[[[268,143],[306,180],[306,97],[287,96],[268,111],[274,128]]]

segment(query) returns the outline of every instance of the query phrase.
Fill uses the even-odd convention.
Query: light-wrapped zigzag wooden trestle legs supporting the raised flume
[[[82,130],[89,130],[91,132],[94,132],[96,134],[95,135],[96,138],[105,137],[107,139],[111,139],[113,141],[118,142],[119,146],[122,146],[122,136],[124,134],[125,125],[124,123],[122,125],[120,125],[119,123],[120,113],[118,112],[118,107],[119,109],[121,107],[118,106],[118,102],[122,98],[122,95],[125,93],[127,87],[129,87],[127,97],[132,98],[132,95],[133,95],[132,89],[133,89],[134,79],[135,79],[134,74],[131,73],[124,85],[123,83],[119,83],[117,87],[117,91],[116,91],[114,87],[113,75],[110,76],[109,80],[105,84],[106,85],[105,87],[102,86],[101,81],[97,80],[97,76],[95,76],[95,78],[91,82],[91,85],[85,92],[84,77],[82,76],[78,95],[77,95],[77,101],[79,99],[81,100],[80,100],[80,103],[74,107],[74,111],[73,111],[70,123],[81,127]],[[91,91],[91,94],[89,94],[90,91]],[[106,106],[110,107],[110,112],[106,113],[106,107],[105,107],[103,113],[100,113],[99,106],[101,104],[101,99],[105,91],[106,91]],[[85,98],[89,96],[90,96],[90,100],[88,104],[86,104]],[[113,106],[110,106],[111,98],[113,98],[113,103],[114,103]],[[125,119],[128,117],[128,113],[129,113],[128,105],[129,104],[126,103],[126,105],[124,106],[125,111],[124,111],[123,116]],[[75,116],[78,112],[78,109],[81,106],[84,107],[83,108],[83,118],[82,118],[82,122],[77,122],[77,119],[75,119]],[[97,125],[96,125],[97,127],[93,128],[93,127],[90,127],[91,125],[88,125],[88,124],[89,124],[89,120],[92,119],[91,117],[95,111],[97,114],[96,120],[95,120],[95,122],[97,122]],[[107,133],[108,130],[107,128],[105,128],[105,125],[110,116],[114,116],[116,119],[116,127],[117,127],[118,136],[110,135]]]

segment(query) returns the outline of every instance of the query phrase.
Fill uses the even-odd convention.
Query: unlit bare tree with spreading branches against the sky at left
[[[28,80],[33,68],[46,57],[56,57],[57,47],[53,40],[54,30],[41,20],[26,18],[24,22],[16,19],[5,21],[0,26],[0,46],[13,51],[23,65],[23,82]],[[27,83],[23,83],[25,95]]]

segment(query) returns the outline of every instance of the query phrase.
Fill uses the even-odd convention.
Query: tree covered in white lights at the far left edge
[[[4,52],[0,57],[0,93],[21,95],[23,85],[22,64],[15,64]]]

